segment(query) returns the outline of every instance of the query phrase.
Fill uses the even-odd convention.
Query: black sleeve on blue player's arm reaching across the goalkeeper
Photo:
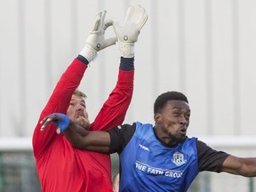
[[[136,124],[123,124],[108,131],[110,136],[109,153],[120,154],[127,143],[132,139],[136,130]]]

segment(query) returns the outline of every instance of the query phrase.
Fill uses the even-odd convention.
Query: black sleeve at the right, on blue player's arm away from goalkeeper
[[[223,162],[229,155],[223,151],[212,149],[200,140],[196,140],[196,147],[199,171],[220,172]]]

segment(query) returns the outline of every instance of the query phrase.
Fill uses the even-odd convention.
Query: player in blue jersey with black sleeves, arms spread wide
[[[187,97],[181,92],[164,92],[154,105],[155,125],[136,122],[108,132],[88,132],[67,116],[52,114],[44,118],[43,129],[53,122],[76,148],[117,152],[120,191],[184,192],[203,171],[256,176],[256,158],[231,156],[195,137],[188,138],[189,117]]]

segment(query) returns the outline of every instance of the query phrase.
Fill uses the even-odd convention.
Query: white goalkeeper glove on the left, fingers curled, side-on
[[[95,17],[94,27],[90,32],[90,35],[86,39],[86,43],[84,45],[84,49],[79,54],[84,56],[86,60],[89,62],[92,61],[97,52],[100,50],[116,44],[117,38],[111,37],[105,39],[105,31],[109,26],[113,25],[113,20],[106,20],[105,21],[106,11],[99,12]]]

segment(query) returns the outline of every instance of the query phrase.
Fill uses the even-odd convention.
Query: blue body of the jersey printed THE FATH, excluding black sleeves
[[[122,192],[184,192],[199,172],[196,138],[167,148],[156,139],[152,124],[136,123],[132,139],[120,153],[120,162]]]

